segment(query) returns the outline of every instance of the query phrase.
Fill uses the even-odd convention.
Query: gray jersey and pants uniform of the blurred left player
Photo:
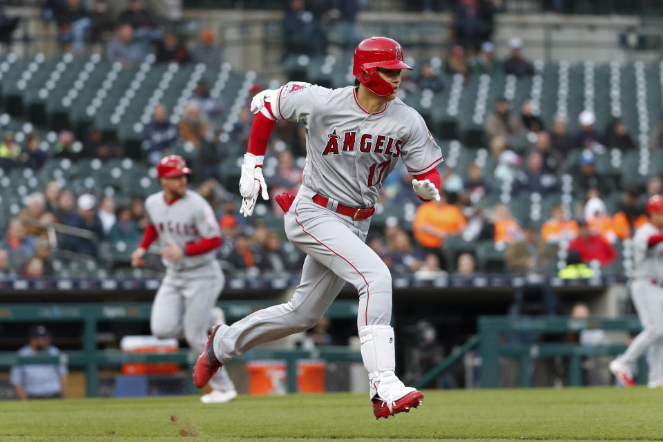
[[[170,204],[163,191],[157,192],[147,198],[145,209],[163,246],[170,242],[184,249],[190,242],[221,236],[211,206],[193,191],[187,190],[182,198]],[[211,311],[225,282],[214,255],[212,250],[183,256],[174,262],[163,260],[166,277],[154,298],[150,318],[154,336],[184,336],[194,352],[202,352]],[[215,374],[210,385],[215,390],[235,390],[225,369]]]

